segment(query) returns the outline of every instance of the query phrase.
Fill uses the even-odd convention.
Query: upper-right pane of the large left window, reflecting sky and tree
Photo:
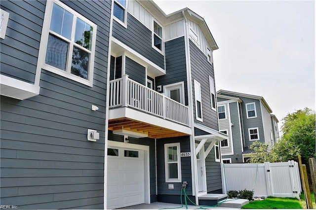
[[[85,49],[91,50],[93,27],[77,18],[75,42]]]

